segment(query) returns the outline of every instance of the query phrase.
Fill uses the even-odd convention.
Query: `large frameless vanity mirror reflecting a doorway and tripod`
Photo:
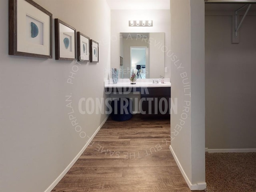
[[[120,33],[120,78],[164,75],[164,33]]]

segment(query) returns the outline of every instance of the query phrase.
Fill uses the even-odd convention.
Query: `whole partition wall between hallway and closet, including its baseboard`
[[[172,98],[170,149],[188,184],[204,189],[204,0],[171,0]]]

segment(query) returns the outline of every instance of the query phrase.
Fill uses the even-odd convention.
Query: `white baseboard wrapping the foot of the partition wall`
[[[206,188],[206,182],[198,182],[196,184],[192,184],[188,176],[186,175],[185,171],[183,170],[182,165],[180,164],[180,161],[178,160],[174,150],[172,149],[172,146],[170,146],[169,148],[190,190],[204,190]]]

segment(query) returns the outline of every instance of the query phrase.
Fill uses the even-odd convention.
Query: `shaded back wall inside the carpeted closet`
[[[256,148],[256,16],[246,16],[232,44],[232,16],[206,15],[206,147]]]

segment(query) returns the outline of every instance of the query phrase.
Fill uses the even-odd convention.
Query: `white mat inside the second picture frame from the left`
[[[75,31],[68,26],[59,23],[59,38],[60,38],[60,57],[61,58],[76,58],[75,57]],[[66,49],[64,38],[69,36],[69,48]]]

